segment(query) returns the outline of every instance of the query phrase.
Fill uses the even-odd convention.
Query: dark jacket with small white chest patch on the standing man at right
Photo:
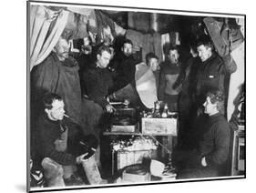
[[[197,103],[201,105],[210,87],[224,91],[224,63],[220,56],[212,53],[206,61],[201,62],[196,86]]]

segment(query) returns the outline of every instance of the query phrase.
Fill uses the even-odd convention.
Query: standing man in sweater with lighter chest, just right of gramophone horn
[[[179,48],[170,46],[168,60],[163,63],[159,79],[159,100],[169,106],[170,111],[178,111],[178,97],[181,85],[174,87],[179,77],[181,63],[179,62]]]

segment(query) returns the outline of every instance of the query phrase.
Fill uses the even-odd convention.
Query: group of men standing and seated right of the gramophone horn
[[[209,36],[200,37],[189,48],[188,61],[180,62],[179,47],[170,46],[167,59],[152,67],[159,100],[170,111],[179,112],[178,146],[172,154],[177,178],[225,176],[230,148],[230,127],[224,117],[225,81],[232,71],[214,52]],[[152,58],[158,61],[157,56]]]

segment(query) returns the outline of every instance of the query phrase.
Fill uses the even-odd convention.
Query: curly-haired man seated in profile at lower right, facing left
[[[224,112],[224,94],[210,88],[203,104],[206,117],[200,120],[200,139],[196,149],[173,152],[177,178],[208,178],[227,174],[230,126]]]

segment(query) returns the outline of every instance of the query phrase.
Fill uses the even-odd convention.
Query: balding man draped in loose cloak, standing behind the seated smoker
[[[34,113],[40,107],[41,98],[46,92],[53,92],[63,97],[67,115],[81,124],[82,98],[79,66],[73,57],[68,56],[68,49],[67,40],[60,37],[52,53],[33,68],[31,72],[32,111]]]

